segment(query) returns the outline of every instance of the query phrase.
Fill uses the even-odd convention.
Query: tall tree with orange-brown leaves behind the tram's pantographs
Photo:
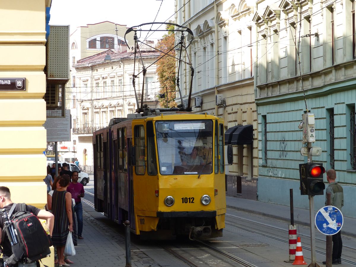
[[[173,21],[169,21],[173,22]],[[174,26],[166,25],[166,30],[168,33],[162,36],[162,39],[157,43],[157,49],[168,53],[171,56],[176,56],[176,51],[173,49],[171,52],[168,52],[174,47]],[[164,55],[164,56],[163,56]],[[164,94],[164,98],[160,98],[158,95],[158,101],[161,107],[163,108],[172,108],[177,106],[176,101],[176,59],[170,56],[165,55],[161,52],[160,56],[163,56],[157,62],[157,74],[158,81],[161,86],[159,94]],[[168,97],[167,97],[167,94]],[[168,102],[168,106],[167,106]]]

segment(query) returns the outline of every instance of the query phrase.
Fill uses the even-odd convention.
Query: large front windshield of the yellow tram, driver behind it
[[[161,174],[212,172],[213,121],[156,121],[156,136]]]

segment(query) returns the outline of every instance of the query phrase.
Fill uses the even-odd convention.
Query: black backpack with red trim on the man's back
[[[11,246],[12,255],[6,260],[9,267],[17,262],[32,263],[41,260],[51,254],[49,247],[52,246],[51,237],[47,235],[37,216],[26,211],[26,204],[20,203],[19,211],[12,214],[15,207],[16,203],[9,211],[9,226],[14,228],[18,242]],[[6,233],[3,231],[3,234],[4,232]]]

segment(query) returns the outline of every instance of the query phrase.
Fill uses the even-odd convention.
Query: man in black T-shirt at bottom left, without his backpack
[[[6,209],[7,213],[9,213],[12,208],[13,202],[11,201],[10,189],[5,186],[0,186],[0,209]],[[49,227],[49,234],[52,236],[53,225],[54,225],[54,216],[52,213],[46,210],[40,210],[32,205],[26,205],[27,211],[36,215],[39,219],[47,220],[47,224]],[[16,208],[13,214],[19,211],[19,204],[16,205]],[[5,219],[0,218],[0,240],[2,245],[2,252],[4,256],[10,257],[12,255],[10,240],[5,235],[4,240],[2,240],[2,229],[4,229]]]

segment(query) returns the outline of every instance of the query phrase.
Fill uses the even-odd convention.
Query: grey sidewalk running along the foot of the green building
[[[226,196],[226,207],[231,209],[246,211],[249,213],[260,214],[274,219],[285,220],[290,223],[289,206]],[[297,215],[299,215],[298,218],[299,224],[307,225],[307,226],[310,225],[309,210],[294,208],[293,212],[294,212],[294,224],[297,224]],[[314,216],[315,214],[316,211],[314,211]],[[355,218],[344,216],[344,224],[341,229],[342,235],[349,235],[349,236],[356,237],[355,225],[356,225]]]

